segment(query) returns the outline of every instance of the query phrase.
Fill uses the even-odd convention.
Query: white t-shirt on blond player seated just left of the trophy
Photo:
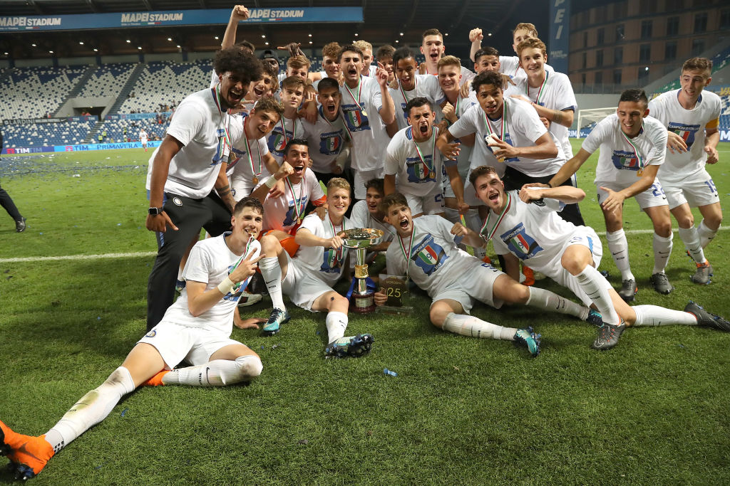
[[[342,223],[337,227],[333,227],[329,216],[325,216],[324,221],[322,221],[318,215],[310,214],[304,218],[297,231],[301,228],[307,228],[319,238],[332,238],[335,232],[350,230],[353,227],[347,218],[344,218]],[[293,259],[302,267],[312,270],[312,273],[321,278],[328,286],[333,286],[342,276],[342,268],[345,267],[345,262],[347,262],[347,248],[343,246],[339,250],[335,250],[323,246],[299,246],[299,250],[296,251]]]

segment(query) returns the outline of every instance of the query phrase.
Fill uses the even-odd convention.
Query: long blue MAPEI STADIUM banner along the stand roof
[[[362,22],[362,7],[274,7],[249,9],[241,23]],[[0,32],[71,31],[96,28],[204,26],[228,23],[230,9],[115,12],[105,14],[0,16]]]

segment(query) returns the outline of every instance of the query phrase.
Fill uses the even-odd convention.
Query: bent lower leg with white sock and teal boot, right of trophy
[[[429,318],[431,324],[444,331],[481,339],[515,341],[524,345],[532,356],[537,356],[540,352],[539,334],[534,334],[531,328],[515,329],[483,321],[473,315],[465,314],[461,303],[453,299],[439,299],[433,302]]]

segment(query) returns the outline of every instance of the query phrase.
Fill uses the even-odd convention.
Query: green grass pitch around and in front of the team
[[[156,248],[144,227],[150,154],[0,160],[2,186],[28,218],[23,234],[0,218],[0,419],[17,431],[45,433],[144,334],[153,262],[145,252]],[[726,214],[729,162],[730,144],[721,144],[721,162],[709,170]],[[581,210],[603,234],[595,163],[593,156],[579,172],[587,193]],[[627,230],[650,229],[634,201],[625,214]],[[651,235],[632,232],[637,303],[681,309],[694,299],[730,316],[729,238],[718,232],[707,249],[712,284],[696,286],[689,281],[694,264],[675,235],[667,274],[676,290],[661,296],[648,283]],[[136,252],[142,255],[35,259]],[[7,261],[23,257],[30,259]],[[610,256],[601,268],[620,284]],[[361,359],[323,359],[324,315],[295,307],[275,337],[234,329],[234,339],[264,362],[250,386],[131,393],[33,481],[730,482],[730,335],[691,326],[629,329],[617,348],[599,353],[589,348],[595,330],[575,319],[527,307],[475,308],[488,321],[541,332],[542,353],[531,359],[510,342],[440,332],[429,324],[425,294],[411,298],[412,317],[350,315],[349,332],[375,337]],[[268,302],[250,313],[266,316]],[[398,376],[384,375],[386,367]],[[0,482],[10,480],[0,473]]]

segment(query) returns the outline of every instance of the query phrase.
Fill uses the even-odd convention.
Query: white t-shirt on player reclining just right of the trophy
[[[454,244],[452,227],[453,223],[441,216],[420,216],[414,219],[412,246],[410,237],[400,238],[396,234],[385,252],[388,273],[406,274],[405,248],[405,254],[409,255],[409,277],[430,297],[450,283],[458,282],[467,270],[481,262]]]

